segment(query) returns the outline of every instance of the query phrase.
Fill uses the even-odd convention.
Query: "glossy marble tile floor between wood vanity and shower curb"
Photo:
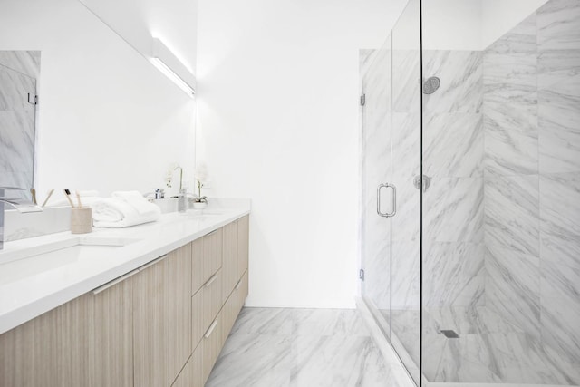
[[[244,308],[206,387],[399,387],[357,310]]]

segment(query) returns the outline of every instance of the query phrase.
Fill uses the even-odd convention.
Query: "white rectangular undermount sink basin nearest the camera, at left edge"
[[[12,243],[16,246],[5,246],[5,250],[0,251],[0,264],[36,256],[65,261],[99,258],[139,240],[131,237],[74,236],[34,246],[25,246],[22,241],[17,241]]]

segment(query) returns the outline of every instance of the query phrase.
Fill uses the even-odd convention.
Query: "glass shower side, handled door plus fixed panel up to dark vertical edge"
[[[362,295],[420,383],[420,1],[361,52]]]

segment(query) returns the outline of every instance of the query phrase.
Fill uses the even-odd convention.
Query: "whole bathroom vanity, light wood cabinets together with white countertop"
[[[137,241],[44,275],[23,269],[39,258],[2,265],[0,385],[203,386],[247,297],[248,214],[103,231]]]

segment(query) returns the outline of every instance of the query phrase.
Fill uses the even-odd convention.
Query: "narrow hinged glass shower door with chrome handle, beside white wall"
[[[361,51],[362,266],[365,300],[391,336],[391,36]]]

